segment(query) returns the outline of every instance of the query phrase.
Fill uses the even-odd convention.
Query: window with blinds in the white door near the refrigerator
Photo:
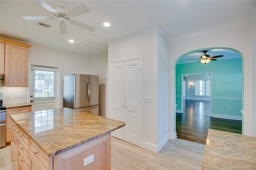
[[[34,99],[55,98],[56,68],[32,66]]]

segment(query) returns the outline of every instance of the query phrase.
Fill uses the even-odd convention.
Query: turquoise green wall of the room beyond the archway
[[[212,72],[212,114],[242,117],[241,58],[176,64],[176,109],[181,109],[181,74],[204,72]]]

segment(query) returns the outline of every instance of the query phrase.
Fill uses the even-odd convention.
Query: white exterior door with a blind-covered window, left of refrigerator
[[[49,91],[49,82],[47,82],[50,78],[46,78],[46,80],[43,80],[43,78],[36,78],[37,80],[35,80],[34,78],[34,70],[43,70],[43,71],[54,71],[55,72],[55,77],[54,77],[54,83],[53,83],[53,87],[51,85],[51,89],[54,88],[55,94],[54,97],[47,97],[44,94],[49,94],[51,93]],[[31,107],[31,111],[40,111],[40,110],[48,110],[48,109],[54,109],[54,108],[58,108],[59,106],[57,106],[57,101],[58,101],[58,68],[52,68],[52,67],[45,67],[45,66],[34,66],[34,65],[30,65],[30,104],[32,104]],[[35,81],[40,81],[40,88],[34,88],[34,82]],[[43,87],[43,84],[45,84],[46,87]],[[48,90],[46,89],[48,87]],[[40,93],[42,92],[42,98],[40,99],[36,99],[37,94],[36,93]]]

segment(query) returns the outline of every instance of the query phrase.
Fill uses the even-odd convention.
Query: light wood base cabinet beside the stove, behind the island
[[[10,115],[27,112],[31,112],[31,106],[6,109],[6,145],[9,145],[12,139]]]

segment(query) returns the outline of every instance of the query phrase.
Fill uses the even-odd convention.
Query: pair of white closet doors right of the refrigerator
[[[140,59],[113,63],[111,68],[111,118],[126,123],[112,136],[140,145]]]

